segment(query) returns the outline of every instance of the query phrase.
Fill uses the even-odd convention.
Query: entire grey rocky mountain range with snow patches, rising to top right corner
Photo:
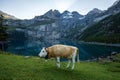
[[[51,38],[52,34],[54,34],[54,36],[59,35],[57,38],[60,36],[70,37],[72,34],[81,34],[90,25],[93,25],[94,23],[97,23],[100,20],[119,12],[120,0],[117,0],[105,11],[94,8],[86,15],[81,15],[77,11],[64,11],[63,13],[60,13],[58,10],[49,10],[45,14],[35,16],[30,20],[10,20],[8,25],[15,26],[17,28],[22,27],[22,29],[26,29],[30,35],[31,33],[38,33],[39,37],[44,37],[41,31],[45,30],[49,32],[46,35]]]

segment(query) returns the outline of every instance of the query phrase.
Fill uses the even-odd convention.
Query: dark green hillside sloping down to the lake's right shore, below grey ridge
[[[77,39],[92,42],[120,43],[120,13],[88,27]]]

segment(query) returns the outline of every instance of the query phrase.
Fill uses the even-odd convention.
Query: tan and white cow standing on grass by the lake
[[[78,48],[62,44],[53,45],[48,48],[43,47],[38,56],[45,59],[55,58],[58,68],[60,68],[60,58],[68,59],[66,68],[70,67],[70,63],[72,61],[72,70],[74,69],[76,57],[77,61],[79,62]]]

